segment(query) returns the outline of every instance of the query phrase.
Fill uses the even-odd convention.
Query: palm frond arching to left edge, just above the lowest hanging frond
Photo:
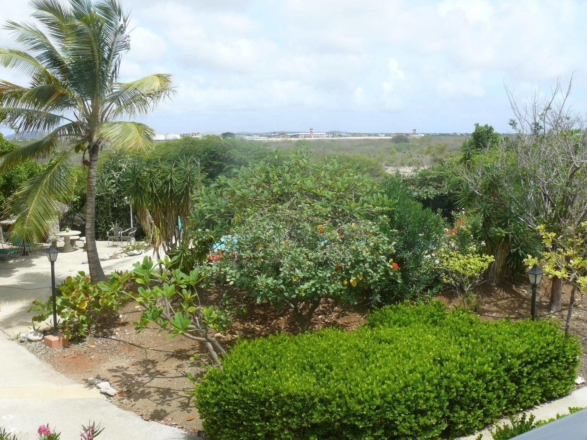
[[[11,151],[0,158],[0,171],[21,164],[25,160],[46,160],[48,159],[59,141],[75,141],[76,144],[83,141],[83,131],[77,122],[65,124],[56,128],[47,136]]]

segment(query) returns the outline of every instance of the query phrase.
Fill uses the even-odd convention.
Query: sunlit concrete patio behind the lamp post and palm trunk
[[[107,242],[97,242],[97,246],[100,256],[122,249],[108,246]],[[33,300],[46,301],[51,295],[51,266],[44,251],[42,249],[19,258],[9,257],[6,261],[0,259],[0,330],[8,336],[29,331],[32,314],[26,311]],[[114,269],[132,269],[133,264],[143,257],[139,255],[106,260],[102,262],[102,268],[106,275]],[[56,283],[59,284],[69,275],[76,275],[80,270],[89,273],[87,254],[82,249],[60,253],[55,262]]]

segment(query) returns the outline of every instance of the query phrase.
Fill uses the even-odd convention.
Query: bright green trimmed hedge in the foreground
[[[572,390],[580,348],[557,330],[441,303],[386,307],[357,331],[238,344],[197,386],[196,404],[210,439],[470,434]]]

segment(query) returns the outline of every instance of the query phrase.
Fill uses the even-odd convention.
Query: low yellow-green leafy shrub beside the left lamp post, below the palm
[[[63,334],[68,338],[87,336],[102,314],[120,307],[122,298],[107,283],[92,283],[83,271],[76,276],[68,276],[57,287],[56,293],[56,309]],[[33,323],[53,316],[52,297],[46,302],[35,300],[32,304],[28,311],[35,312]]]

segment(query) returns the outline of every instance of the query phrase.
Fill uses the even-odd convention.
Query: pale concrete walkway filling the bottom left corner
[[[198,439],[116,407],[96,387],[69,380],[1,331],[0,353],[0,427],[22,438],[36,438],[39,425],[48,423],[63,440],[79,439],[82,424],[92,420],[106,428],[101,440]]]

